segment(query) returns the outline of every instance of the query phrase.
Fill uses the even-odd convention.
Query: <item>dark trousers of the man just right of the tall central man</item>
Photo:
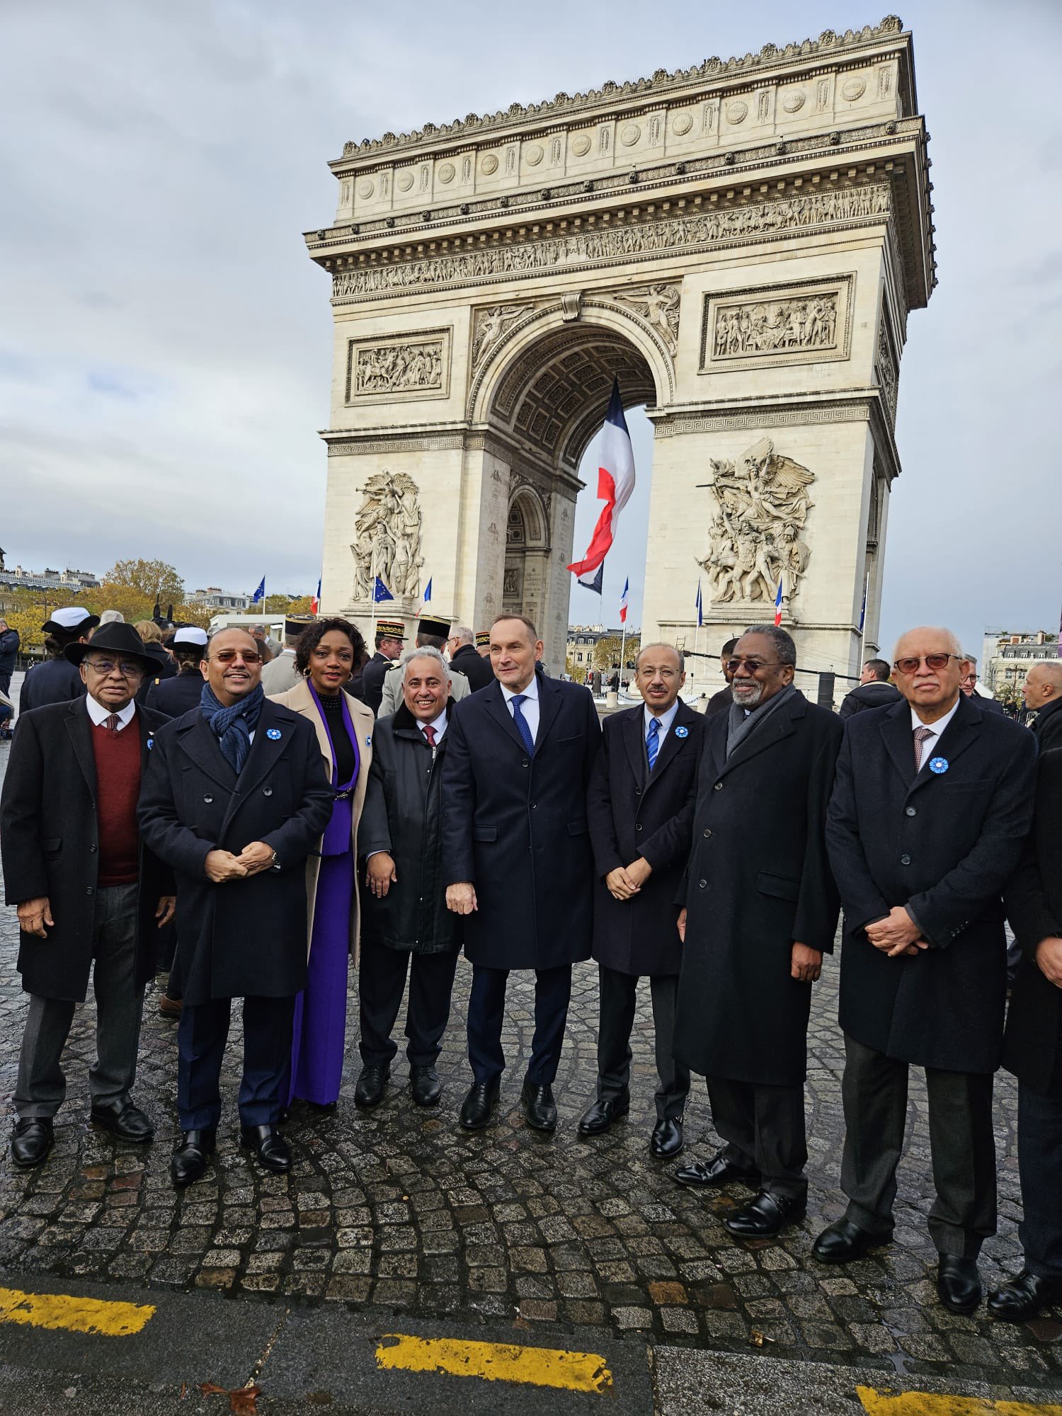
[[[598,1097],[605,1102],[624,1096],[630,1086],[630,1029],[634,1025],[637,974],[624,974],[598,964]],[[657,1117],[674,1120],[683,1114],[690,1092],[690,1069],[675,1062],[675,1000],[678,974],[651,974],[653,1041],[657,1061]]]

